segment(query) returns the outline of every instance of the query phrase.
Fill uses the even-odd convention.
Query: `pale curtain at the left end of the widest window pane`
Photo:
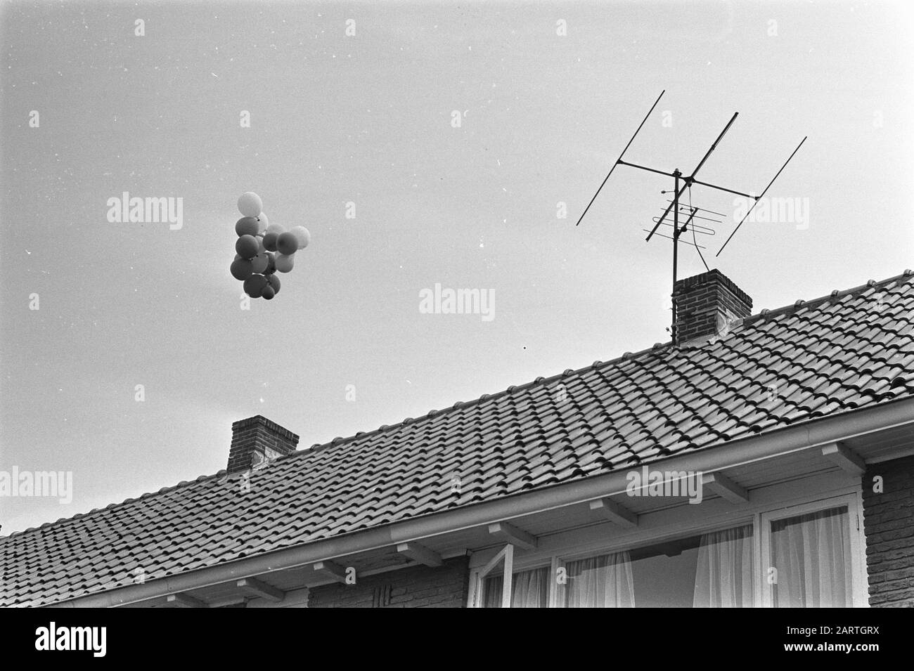
[[[565,564],[566,608],[633,608],[632,557],[626,550]]]

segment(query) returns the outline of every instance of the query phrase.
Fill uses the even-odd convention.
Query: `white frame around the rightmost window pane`
[[[760,574],[757,581],[756,595],[765,608],[774,606],[773,587],[768,582],[768,567],[771,561],[771,522],[778,519],[795,518],[820,510],[847,507],[847,539],[850,543],[851,557],[851,605],[855,608],[869,605],[869,594],[866,580],[866,538],[864,536],[862,506],[859,496],[845,494],[840,497],[824,498],[818,501],[802,503],[789,508],[776,508],[760,513],[758,537],[760,543]]]

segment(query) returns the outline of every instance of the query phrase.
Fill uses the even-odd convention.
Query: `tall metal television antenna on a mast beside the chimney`
[[[672,172],[667,172],[667,171],[665,171],[665,170],[657,170],[656,168],[651,168],[651,167],[648,167],[648,166],[646,166],[646,165],[639,165],[639,164],[637,164],[637,163],[629,163],[628,161],[623,161],[623,160],[622,160],[622,157],[625,155],[625,152],[627,152],[628,149],[629,149],[629,147],[632,146],[632,142],[634,142],[635,137],[636,137],[636,136],[638,135],[638,133],[641,131],[641,129],[642,129],[643,126],[644,126],[644,123],[647,122],[647,118],[651,116],[651,113],[654,111],[654,108],[657,106],[657,103],[660,102],[660,99],[663,98],[665,92],[666,92],[666,89],[662,90],[662,91],[660,92],[660,95],[657,96],[657,100],[654,100],[654,104],[651,105],[651,109],[650,109],[650,110],[647,110],[647,114],[644,115],[644,118],[643,118],[643,120],[641,121],[641,124],[638,126],[638,129],[637,129],[636,131],[634,131],[634,134],[632,135],[632,138],[631,138],[631,139],[628,141],[628,143],[625,145],[625,148],[622,149],[622,153],[619,154],[619,158],[616,159],[616,162],[612,164],[612,167],[610,168],[610,172],[607,173],[606,177],[603,178],[603,181],[600,183],[600,186],[597,188],[597,193],[593,194],[593,197],[590,198],[590,203],[588,203],[588,204],[587,204],[587,207],[584,208],[584,212],[581,213],[581,215],[580,215],[580,217],[579,217],[579,219],[578,219],[578,223],[575,224],[575,225],[576,225],[576,226],[577,226],[577,225],[580,225],[580,222],[584,219],[584,215],[587,215],[588,210],[590,210],[590,205],[592,205],[593,202],[597,199],[597,196],[600,195],[600,191],[602,190],[603,186],[606,185],[606,183],[607,183],[607,182],[609,181],[609,179],[610,179],[610,176],[611,176],[612,172],[613,172],[613,171],[616,169],[616,167],[619,166],[619,165],[627,165],[627,166],[630,167],[630,168],[638,168],[639,170],[644,170],[644,171],[647,171],[648,173],[663,174],[663,175],[666,175],[667,177],[672,177],[672,178],[673,178],[673,189],[672,189],[672,191],[663,191],[663,192],[661,192],[662,194],[673,194],[672,199],[670,199],[669,201],[667,201],[668,204],[667,204],[666,208],[664,209],[664,214],[661,215],[661,216],[659,216],[659,217],[654,217],[654,220],[653,220],[653,221],[654,221],[654,227],[653,227],[653,228],[651,228],[651,229],[644,228],[643,230],[647,233],[647,237],[644,238],[645,241],[648,241],[648,242],[649,242],[649,241],[651,240],[651,238],[654,237],[654,236],[666,237],[666,238],[669,238],[669,239],[673,240],[673,295],[672,295],[673,325],[672,325],[672,327],[670,328],[670,334],[671,334],[672,337],[673,337],[673,344],[675,345],[675,344],[676,344],[676,299],[675,299],[675,288],[676,288],[676,265],[677,265],[677,262],[678,262],[678,248],[679,248],[679,243],[680,243],[680,239],[679,239],[679,238],[680,238],[684,233],[686,233],[686,232],[689,230],[689,226],[691,226],[691,227],[692,227],[692,237],[693,237],[693,240],[692,240],[691,243],[688,242],[688,241],[683,241],[683,244],[684,244],[684,245],[689,245],[689,246],[694,246],[694,247],[696,248],[696,251],[698,252],[698,255],[701,256],[701,250],[704,249],[704,248],[707,248],[707,247],[703,247],[703,246],[699,246],[699,245],[698,245],[697,239],[696,239],[696,234],[697,234],[697,235],[705,235],[705,236],[713,236],[713,235],[715,235],[715,231],[714,231],[714,229],[713,229],[711,226],[709,226],[709,225],[697,224],[697,223],[695,222],[695,220],[696,220],[696,219],[698,219],[698,220],[707,219],[708,221],[711,221],[712,223],[720,224],[720,223],[721,223],[720,220],[711,219],[710,217],[707,217],[707,216],[704,216],[704,215],[726,216],[726,215],[720,214],[719,212],[713,212],[713,211],[711,211],[711,210],[706,210],[706,209],[701,208],[701,207],[694,207],[694,206],[692,206],[692,204],[691,204],[691,199],[692,199],[692,186],[693,186],[694,184],[698,184],[698,185],[700,185],[700,186],[707,186],[708,188],[717,189],[717,191],[723,191],[723,192],[726,192],[726,193],[728,193],[728,194],[741,195],[741,196],[743,196],[744,198],[749,198],[749,200],[752,201],[752,204],[749,206],[749,210],[746,212],[745,215],[743,215],[743,218],[739,221],[739,224],[737,225],[737,227],[733,229],[733,231],[730,233],[730,235],[728,236],[728,238],[724,241],[724,244],[721,245],[721,246],[720,246],[720,249],[717,250],[717,254],[714,255],[715,257],[719,257],[719,256],[720,256],[720,253],[721,253],[722,251],[724,251],[724,249],[728,246],[730,240],[733,239],[733,236],[736,235],[736,232],[739,231],[739,227],[740,227],[741,225],[743,225],[743,223],[746,221],[746,219],[749,218],[749,215],[752,214],[752,210],[755,209],[755,206],[756,206],[757,204],[759,204],[759,201],[764,197],[765,194],[768,193],[768,190],[771,188],[771,184],[774,183],[774,180],[776,180],[776,179],[781,175],[781,173],[783,172],[784,168],[787,167],[787,163],[790,163],[790,162],[791,162],[791,159],[792,159],[793,156],[796,154],[796,152],[799,152],[799,151],[800,151],[800,147],[802,147],[802,143],[803,143],[803,142],[806,142],[806,138],[804,137],[804,138],[800,141],[800,144],[798,144],[798,145],[797,145],[797,148],[793,150],[793,152],[791,153],[791,155],[787,158],[787,161],[785,161],[784,164],[781,165],[781,170],[779,170],[777,173],[775,173],[774,177],[771,178],[771,182],[769,182],[768,185],[762,190],[762,192],[761,192],[760,195],[744,194],[744,193],[742,193],[741,191],[737,191],[737,190],[735,190],[735,189],[729,189],[729,188],[727,188],[727,187],[725,187],[725,186],[720,186],[720,185],[718,185],[718,184],[712,184],[712,183],[707,183],[707,182],[701,182],[701,181],[699,181],[699,180],[696,179],[696,174],[697,174],[698,171],[701,170],[702,167],[705,165],[705,163],[707,162],[707,159],[708,159],[708,157],[711,155],[711,153],[714,152],[714,150],[717,149],[717,145],[720,143],[721,140],[723,140],[724,135],[727,134],[727,131],[730,130],[730,126],[732,126],[732,125],[733,125],[733,122],[737,120],[737,117],[739,116],[739,112],[733,112],[733,116],[730,117],[730,121],[728,121],[728,122],[727,122],[727,125],[724,126],[724,130],[723,130],[723,131],[720,131],[720,134],[717,135],[717,140],[715,140],[714,142],[712,142],[710,149],[708,149],[707,152],[705,152],[705,155],[702,157],[701,161],[699,161],[698,164],[696,165],[695,170],[693,170],[692,173],[689,174],[689,175],[687,175],[687,176],[684,176],[684,174],[681,173],[681,172],[679,171],[678,168],[675,168]],[[807,137],[808,137],[808,136],[807,136]],[[685,194],[685,190],[686,190],[686,189],[688,189],[688,194],[689,194],[689,205],[688,205],[687,207],[685,207],[685,205],[680,204],[680,198],[682,197],[683,194]],[[673,214],[673,222],[672,222],[672,224],[667,220],[667,217],[670,215],[671,212],[672,212],[672,214]],[[703,214],[702,214],[702,215],[699,215],[699,214],[698,214],[699,212],[700,212],[700,213],[703,213]],[[680,215],[687,215],[686,218],[685,218],[685,223],[684,223],[683,225],[680,225],[680,224],[679,224],[679,217],[680,217]],[[657,229],[660,228],[661,225],[664,225],[664,226],[667,226],[667,227],[672,227],[673,230],[670,231],[670,232],[671,232],[673,235],[672,235],[672,236],[666,236],[666,235],[664,235],[664,234],[662,234],[662,233],[658,233],[658,232],[657,232]],[[702,263],[704,263],[704,264],[705,264],[705,267],[707,268],[707,263],[705,262],[705,257],[704,257],[704,256],[701,256],[701,260],[702,260]]]

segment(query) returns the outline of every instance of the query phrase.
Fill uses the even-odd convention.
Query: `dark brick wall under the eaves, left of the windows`
[[[468,557],[440,567],[413,566],[359,578],[354,585],[334,583],[311,589],[309,608],[463,608],[470,568]]]

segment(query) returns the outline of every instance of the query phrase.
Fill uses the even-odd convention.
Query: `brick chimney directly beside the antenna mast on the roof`
[[[707,341],[752,314],[752,299],[717,269],[675,284],[676,342]]]

